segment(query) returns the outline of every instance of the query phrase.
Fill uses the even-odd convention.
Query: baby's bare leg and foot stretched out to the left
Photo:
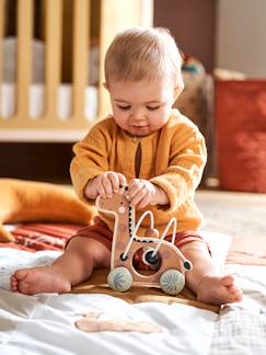
[[[25,295],[68,293],[88,279],[93,270],[109,266],[111,252],[97,240],[74,237],[50,266],[22,268],[11,276],[11,289]]]

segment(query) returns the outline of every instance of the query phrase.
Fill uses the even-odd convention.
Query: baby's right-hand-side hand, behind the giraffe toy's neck
[[[144,208],[155,203],[157,187],[143,179],[132,179],[128,185],[127,197],[131,205]]]

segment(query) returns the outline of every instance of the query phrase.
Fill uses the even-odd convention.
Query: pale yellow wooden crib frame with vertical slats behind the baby
[[[2,71],[1,42],[4,36],[4,7],[0,0],[0,72]],[[1,141],[76,141],[88,130],[90,122],[84,117],[84,90],[89,75],[88,50],[91,27],[91,1],[72,0],[73,11],[73,66],[72,66],[72,111],[71,117],[59,119],[57,114],[57,92],[61,73],[62,7],[63,0],[43,0],[42,21],[45,37],[45,106],[38,119],[28,114],[30,87],[32,76],[33,0],[18,0],[18,61],[15,82],[15,113],[8,119],[0,117]],[[108,98],[103,82],[103,64],[106,48],[114,35],[126,27],[151,25],[152,0],[99,0],[100,4],[100,85],[96,119],[109,110]],[[95,16],[96,18],[96,16]],[[0,84],[1,84],[0,73]]]

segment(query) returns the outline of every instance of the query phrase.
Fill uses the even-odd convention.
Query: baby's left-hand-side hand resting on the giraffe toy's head
[[[85,186],[84,195],[89,199],[95,199],[99,195],[102,197],[112,197],[113,193],[119,192],[120,185],[126,185],[126,178],[114,171],[106,171],[89,181]]]

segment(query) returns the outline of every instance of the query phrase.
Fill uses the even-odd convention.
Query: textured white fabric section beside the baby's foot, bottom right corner
[[[229,265],[227,268],[239,277],[244,299],[220,312],[209,354],[266,354],[266,267]]]

